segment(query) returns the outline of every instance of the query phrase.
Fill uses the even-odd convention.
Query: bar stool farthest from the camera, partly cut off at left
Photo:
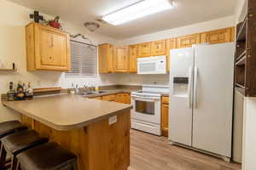
[[[19,121],[0,122],[0,139],[11,133],[15,133],[26,129],[27,127],[22,125]],[[3,160],[2,158],[5,158],[6,154],[7,153],[5,150],[3,150],[2,143],[0,140],[0,169],[3,168],[5,165],[6,160]]]

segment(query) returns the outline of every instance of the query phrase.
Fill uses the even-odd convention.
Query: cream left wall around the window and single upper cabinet
[[[12,62],[17,65],[17,72],[0,72],[0,94],[5,94],[9,82],[32,82],[35,88],[61,86],[67,88],[71,82],[82,85],[84,82],[98,82],[99,84],[116,84],[114,75],[102,75],[92,79],[65,79],[62,73],[49,71],[26,71],[26,35],[25,26],[31,21],[29,14],[33,9],[10,3],[6,0],[0,2],[0,59],[4,65],[11,67]],[[46,16],[49,17],[49,16]],[[104,37],[87,31],[82,26],[73,26],[61,21],[63,29],[70,33],[82,33],[93,42],[116,43],[113,38]],[[17,119],[19,114],[9,111],[0,105],[0,122]]]

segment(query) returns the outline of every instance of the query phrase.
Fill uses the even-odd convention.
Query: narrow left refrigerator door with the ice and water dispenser
[[[191,146],[194,49],[171,50],[169,139]]]

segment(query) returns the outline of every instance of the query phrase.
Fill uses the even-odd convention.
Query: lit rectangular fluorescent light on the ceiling
[[[109,24],[118,26],[172,8],[172,0],[143,0],[102,17]]]

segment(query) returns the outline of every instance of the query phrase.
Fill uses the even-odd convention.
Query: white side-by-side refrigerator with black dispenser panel
[[[235,44],[171,50],[169,140],[231,157]]]

